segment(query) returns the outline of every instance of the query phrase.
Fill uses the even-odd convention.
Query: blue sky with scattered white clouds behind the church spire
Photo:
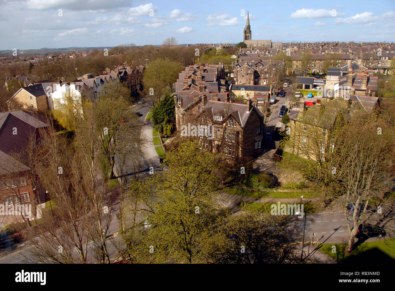
[[[239,43],[247,11],[252,39],[395,41],[395,0],[335,1],[0,0],[0,50]]]

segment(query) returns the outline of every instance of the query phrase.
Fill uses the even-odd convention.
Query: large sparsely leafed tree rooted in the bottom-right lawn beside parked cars
[[[335,170],[332,170],[331,175],[331,198],[343,206],[362,205],[361,209],[354,207],[353,228],[346,208],[344,209],[350,232],[346,248],[348,254],[353,249],[360,224],[368,221],[372,224],[375,221],[378,226],[392,224],[394,201],[391,197],[393,185],[390,177],[395,161],[395,134],[392,127],[393,125],[386,124],[381,118],[371,114],[354,116],[349,123],[337,130],[330,162]],[[368,205],[376,209],[377,213],[367,211]]]

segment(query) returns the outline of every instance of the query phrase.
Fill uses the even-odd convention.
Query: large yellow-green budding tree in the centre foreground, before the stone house
[[[125,241],[127,246],[133,246],[130,253],[137,261],[165,263],[172,259],[199,263],[211,252],[208,248],[211,229],[219,217],[227,215],[217,198],[219,181],[214,173],[218,158],[201,151],[197,142],[184,142],[167,152],[164,162],[169,170],[154,174],[143,187],[133,187],[152,194],[147,190],[128,193],[125,199],[131,202],[124,201],[123,205],[138,205],[133,209],[139,210],[140,219],[128,215],[126,222],[122,221],[125,232],[136,233],[144,225],[149,228],[141,235],[138,246],[134,241]],[[135,201],[137,198],[140,199]],[[122,209],[122,213],[127,211]]]

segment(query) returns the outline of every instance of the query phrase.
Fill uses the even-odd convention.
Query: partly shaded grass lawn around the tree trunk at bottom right
[[[358,241],[355,241],[357,243]],[[336,246],[336,253],[332,253],[332,246]],[[344,254],[347,243],[323,244],[321,252],[342,261],[342,263],[366,263],[372,258],[380,263],[395,262],[395,238],[380,241],[365,241],[359,244],[351,254]]]

